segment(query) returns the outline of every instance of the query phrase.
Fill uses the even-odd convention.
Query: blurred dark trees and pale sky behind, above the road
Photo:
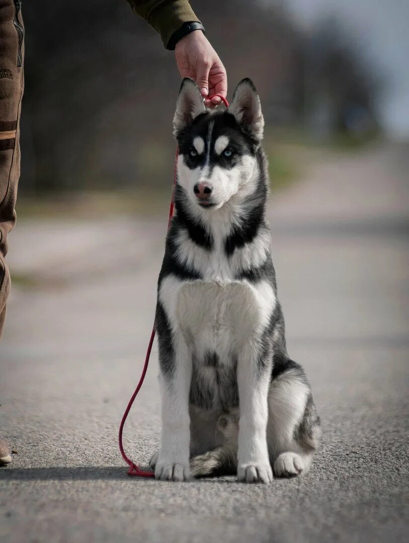
[[[256,83],[273,186],[295,174],[283,140],[356,147],[408,134],[405,2],[192,5],[226,66],[229,96],[243,77]],[[166,193],[179,74],[173,53],[133,15],[124,0],[24,5],[21,205],[55,193]]]

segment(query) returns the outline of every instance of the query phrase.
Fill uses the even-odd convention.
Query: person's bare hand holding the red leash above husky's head
[[[202,30],[194,30],[178,41],[176,64],[182,77],[191,77],[199,86],[203,98],[212,94],[227,94],[227,76],[222,61]],[[218,105],[219,97],[205,99],[205,105]]]

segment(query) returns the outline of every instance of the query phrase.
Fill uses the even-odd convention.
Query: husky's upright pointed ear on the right
[[[251,79],[242,79],[234,91],[228,109],[257,141],[263,138],[264,118],[260,98]]]

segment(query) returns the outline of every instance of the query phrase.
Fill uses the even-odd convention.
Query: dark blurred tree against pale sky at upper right
[[[305,48],[306,118],[314,135],[364,138],[376,129],[372,66],[335,18],[321,20]]]

